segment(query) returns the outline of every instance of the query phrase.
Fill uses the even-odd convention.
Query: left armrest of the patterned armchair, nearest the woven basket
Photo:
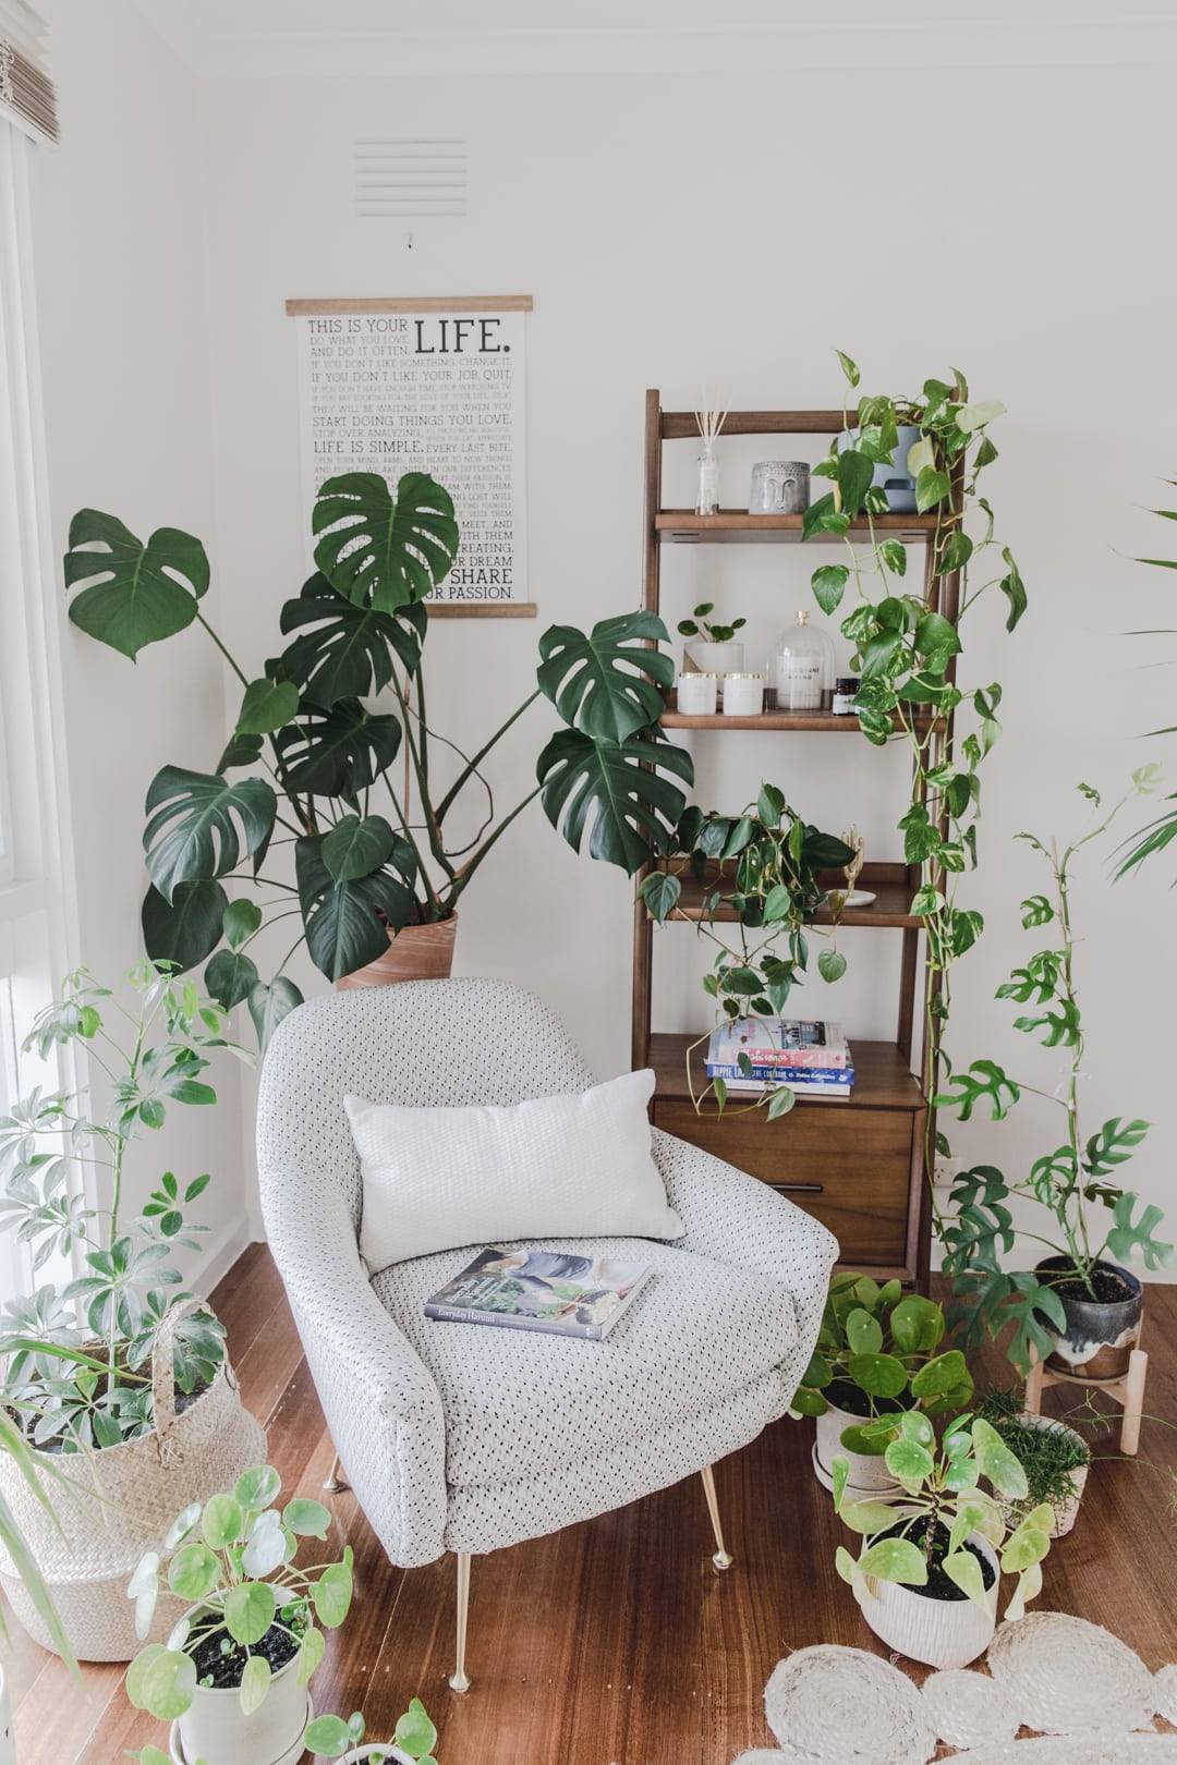
[[[369,1285],[342,1186],[263,1160],[261,1205],[348,1483],[395,1564],[434,1562],[446,1550],[441,1394]]]

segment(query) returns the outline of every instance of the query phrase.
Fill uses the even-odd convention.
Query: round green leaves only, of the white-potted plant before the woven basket
[[[192,1703],[203,1680],[192,1652],[221,1638],[221,1652],[245,1654],[240,1680],[242,1712],[251,1716],[270,1689],[272,1668],[252,1650],[268,1631],[284,1629],[296,1645],[302,1686],[323,1659],[323,1631],[337,1629],[351,1608],[351,1546],[335,1562],[295,1567],[298,1541],[326,1539],[332,1514],[321,1502],[295,1497],[274,1502],[281,1477],[272,1465],[242,1472],[233,1491],[192,1502],[176,1514],[161,1551],[139,1560],[127,1594],[136,1603],[136,1631],[146,1636],[155,1615],[161,1574],[192,1611],[166,1643],[148,1643],[127,1668],[127,1696],[138,1710],[173,1723]],[[169,1557],[162,1569],[162,1558]]]

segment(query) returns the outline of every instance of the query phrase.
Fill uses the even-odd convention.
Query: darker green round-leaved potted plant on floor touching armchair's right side
[[[939,1352],[942,1340],[935,1301],[903,1294],[900,1281],[881,1287],[868,1274],[831,1278],[817,1348],[791,1405],[817,1417],[813,1470],[824,1488],[833,1488],[840,1460],[851,1497],[895,1490],[886,1449],[902,1416],[965,1408],[972,1377],[958,1348]]]

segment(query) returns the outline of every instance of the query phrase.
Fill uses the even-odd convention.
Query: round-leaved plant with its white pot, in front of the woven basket
[[[326,1539],[332,1516],[302,1497],[279,1509],[279,1491],[277,1470],[258,1465],[231,1493],[191,1504],[127,1585],[141,1636],[161,1574],[189,1608],[166,1643],[150,1643],[127,1668],[131,1703],[175,1724],[180,1765],[302,1758],[323,1631],[337,1629],[351,1606],[351,1546],[334,1562],[296,1569],[298,1541]]]

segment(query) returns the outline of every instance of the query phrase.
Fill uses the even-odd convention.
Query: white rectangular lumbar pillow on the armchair
[[[369,1273],[514,1237],[681,1237],[649,1151],[653,1089],[653,1071],[642,1071],[508,1107],[404,1108],[346,1096]]]

